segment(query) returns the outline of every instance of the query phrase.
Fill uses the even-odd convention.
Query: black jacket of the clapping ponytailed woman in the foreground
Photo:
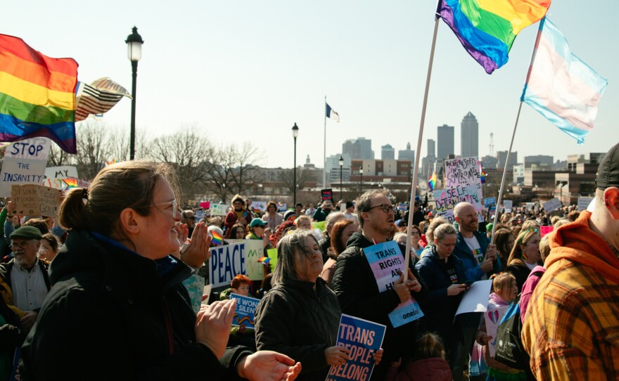
[[[195,343],[196,315],[181,285],[191,269],[170,258],[155,262],[72,231],[22,348],[23,380],[222,379],[224,366]]]

